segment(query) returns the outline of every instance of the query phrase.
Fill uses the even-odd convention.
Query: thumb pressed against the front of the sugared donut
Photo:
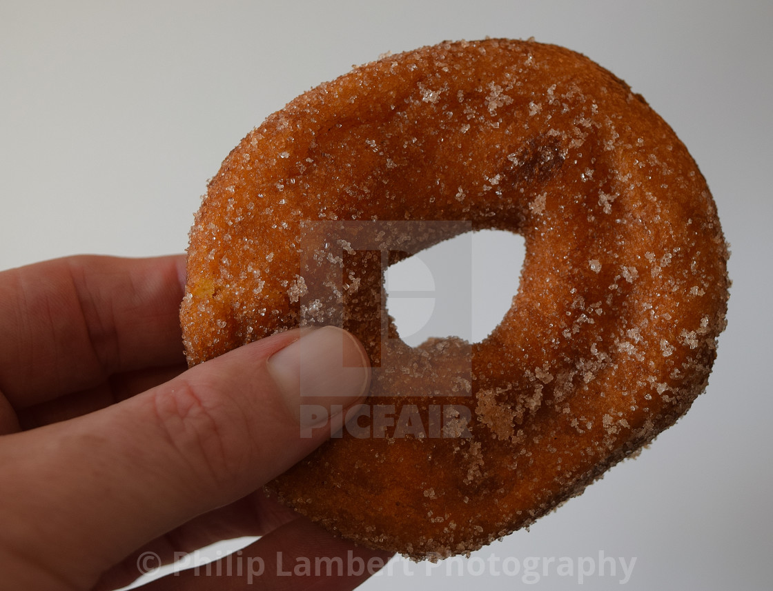
[[[331,413],[365,396],[369,375],[346,331],[299,329],[96,413],[5,436],[0,498],[18,502],[0,508],[0,545],[93,584],[148,540],[308,455],[330,436]]]

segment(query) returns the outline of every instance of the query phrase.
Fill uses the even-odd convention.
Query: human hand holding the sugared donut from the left
[[[263,536],[240,552],[243,576],[250,559],[264,564],[261,589],[353,589],[388,559],[259,490],[329,435],[300,436],[300,339],[305,375],[316,378],[315,392],[304,393],[345,409],[369,382],[362,345],[337,328],[295,330],[186,370],[184,264],[77,256],[0,273],[5,588],[114,589],[141,574],[142,556],[169,562],[244,535]],[[357,369],[344,371],[341,352]],[[278,552],[284,566],[353,556],[370,568],[276,576]],[[246,583],[236,568],[211,572],[223,576],[189,571],[148,589]]]

